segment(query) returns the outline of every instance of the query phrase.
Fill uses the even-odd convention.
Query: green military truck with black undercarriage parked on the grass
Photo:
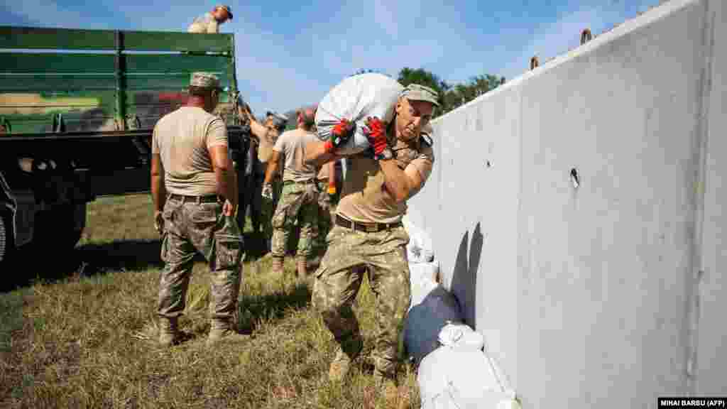
[[[194,71],[220,76],[230,148],[244,127],[232,34],[0,26],[0,266],[71,250],[97,196],[149,191],[156,121]]]

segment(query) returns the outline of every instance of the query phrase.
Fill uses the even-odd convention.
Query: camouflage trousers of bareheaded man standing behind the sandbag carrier
[[[310,258],[313,254],[314,229],[318,219],[318,190],[313,183],[283,184],[283,191],[273,216],[273,242],[270,253],[285,256],[285,245],[297,220],[300,225],[297,255]]]

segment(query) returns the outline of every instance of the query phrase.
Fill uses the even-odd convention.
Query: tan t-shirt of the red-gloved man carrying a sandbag
[[[401,170],[413,166],[426,182],[432,172],[434,151],[422,138],[407,144],[397,140],[393,148]],[[336,213],[361,223],[397,223],[406,213],[406,202],[396,203],[386,190],[384,173],[365,154],[350,156]],[[423,188],[423,186],[422,186]]]

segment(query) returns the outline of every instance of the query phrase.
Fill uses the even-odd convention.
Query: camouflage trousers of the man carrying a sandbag
[[[334,226],[326,242],[328,250],[313,285],[313,306],[343,352],[353,357],[361,333],[351,304],[368,273],[377,298],[374,367],[381,376],[395,376],[399,335],[411,298],[406,261],[409,235],[403,227],[364,233]]]

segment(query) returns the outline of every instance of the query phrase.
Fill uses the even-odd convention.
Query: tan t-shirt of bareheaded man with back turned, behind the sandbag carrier
[[[283,181],[303,182],[316,178],[316,165],[305,163],[305,145],[318,140],[313,132],[300,128],[283,132],[273,151],[285,156]]]

